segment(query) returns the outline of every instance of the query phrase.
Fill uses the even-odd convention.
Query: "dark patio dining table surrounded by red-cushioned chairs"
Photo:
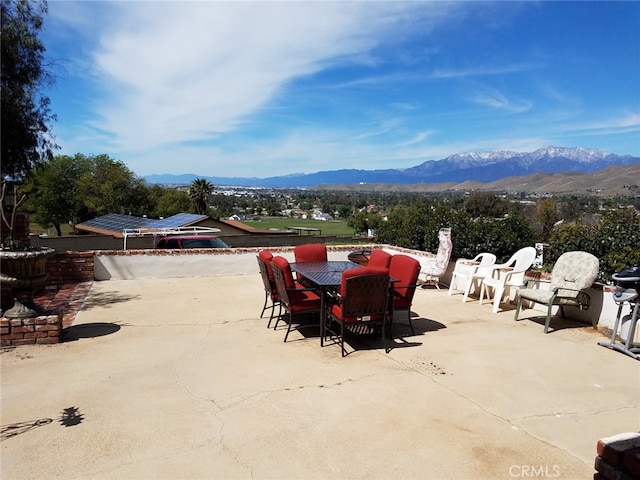
[[[324,346],[326,331],[327,292],[337,288],[342,282],[342,273],[352,268],[360,268],[360,265],[350,261],[326,261],[326,262],[294,262],[291,270],[311,282],[320,292],[320,346]]]

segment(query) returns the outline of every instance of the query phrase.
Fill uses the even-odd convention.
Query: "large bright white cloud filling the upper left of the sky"
[[[388,27],[412,19],[407,9],[418,5],[121,2],[110,6],[112,16],[105,21],[109,29],[102,33],[94,55],[95,75],[107,95],[98,100],[91,125],[110,133],[116,150],[144,150],[211,139],[236,128],[292,80],[366,55],[384,41]]]

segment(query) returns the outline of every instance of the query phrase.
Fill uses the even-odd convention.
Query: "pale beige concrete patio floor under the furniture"
[[[257,274],[95,282],[74,340],[0,355],[0,473],[592,478],[598,439],[640,429],[640,362],[461,298],[421,289],[416,335],[341,358],[267,329]]]

